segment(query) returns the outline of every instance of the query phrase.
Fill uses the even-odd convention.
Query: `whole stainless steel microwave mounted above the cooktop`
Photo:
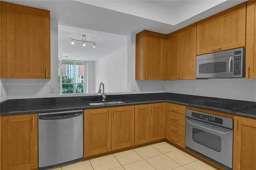
[[[196,78],[245,77],[245,48],[196,56]]]

